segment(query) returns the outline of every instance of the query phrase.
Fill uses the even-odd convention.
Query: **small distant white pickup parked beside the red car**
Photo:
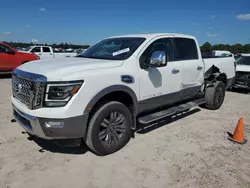
[[[54,52],[51,46],[30,46],[25,51],[36,54],[40,59],[54,59],[77,55],[75,52]]]

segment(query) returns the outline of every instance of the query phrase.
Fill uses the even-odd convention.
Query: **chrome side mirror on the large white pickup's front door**
[[[155,51],[153,52],[149,67],[163,67],[167,65],[166,53],[164,51]]]

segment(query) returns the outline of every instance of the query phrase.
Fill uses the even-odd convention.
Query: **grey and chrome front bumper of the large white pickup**
[[[14,119],[31,135],[48,140],[85,136],[88,114],[65,119],[41,118],[26,114],[12,106]]]

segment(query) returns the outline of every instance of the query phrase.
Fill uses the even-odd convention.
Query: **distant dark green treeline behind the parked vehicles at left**
[[[28,46],[34,46],[34,44],[32,43],[23,43],[23,42],[4,42],[8,45],[10,45],[13,48],[27,48]],[[68,43],[61,43],[61,44],[36,44],[36,46],[51,46],[52,48],[63,48],[63,49],[67,49],[67,48],[73,48],[73,49],[86,49],[89,47],[89,45],[76,45],[76,44],[68,44]]]

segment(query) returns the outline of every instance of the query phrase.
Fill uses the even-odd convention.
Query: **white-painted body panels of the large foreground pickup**
[[[18,69],[45,75],[48,81],[84,80],[84,84],[69,103],[60,108],[28,109],[24,104],[12,98],[12,103],[21,111],[38,117],[69,118],[80,116],[88,107],[89,101],[97,93],[113,85],[126,85],[134,91],[138,101],[151,97],[181,91],[181,87],[201,86],[204,81],[204,71],[212,65],[217,66],[227,78],[234,76],[233,57],[211,58],[203,60],[199,44],[195,37],[182,34],[139,34],[118,37],[144,37],[146,40],[124,61],[88,59],[81,57],[55,58],[38,60],[23,64]],[[198,59],[189,61],[168,62],[160,68],[141,69],[139,58],[145,49],[155,40],[161,38],[183,37],[194,39],[197,44]],[[198,71],[197,66],[202,70]],[[173,69],[179,69],[178,74],[172,74]],[[126,84],[121,81],[121,75],[131,75],[135,83]]]

